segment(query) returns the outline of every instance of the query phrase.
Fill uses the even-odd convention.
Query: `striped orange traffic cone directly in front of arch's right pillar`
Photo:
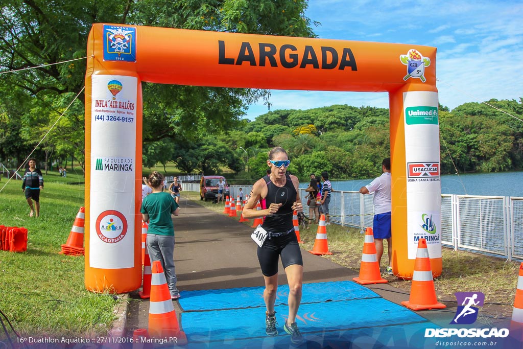
[[[412,310],[443,309],[446,305],[439,303],[434,288],[434,278],[430,269],[430,258],[427,250],[427,241],[418,240],[418,250],[414,261],[411,296],[401,304]]]

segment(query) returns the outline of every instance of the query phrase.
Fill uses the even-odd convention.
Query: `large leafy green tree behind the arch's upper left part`
[[[13,0],[3,2],[0,10],[0,69],[14,71],[48,63],[81,59],[86,56],[86,39],[90,27],[96,22],[163,26],[169,28],[219,30],[267,35],[313,37],[311,20],[306,17],[305,0],[260,2],[222,0],[129,0],[126,2],[69,2],[43,0]],[[9,120],[40,125],[47,115],[51,120],[56,114],[51,100],[80,92],[84,85],[85,61],[69,62],[0,75],[2,88],[0,100],[21,101],[17,112],[5,108]],[[244,115],[246,105],[260,98],[266,99],[268,91],[244,88],[209,88],[197,86],[154,86],[144,84],[144,142],[165,138],[198,139],[206,133],[218,134],[229,130]],[[65,95],[64,95],[65,96]],[[68,95],[69,98],[71,96]],[[166,97],[160,99],[160,97]],[[83,102],[84,95],[79,99]],[[161,102],[161,103],[158,103]],[[40,108],[38,118],[30,111]],[[74,111],[65,129],[58,126],[57,134],[68,129],[84,128],[83,109]],[[73,111],[68,111],[72,113]],[[47,125],[49,129],[50,125]],[[16,131],[11,129],[11,132]],[[78,137],[83,140],[83,137]],[[66,144],[61,147],[65,152]],[[84,144],[73,142],[74,156]],[[49,148],[49,147],[48,147]],[[58,152],[55,152],[58,154]]]

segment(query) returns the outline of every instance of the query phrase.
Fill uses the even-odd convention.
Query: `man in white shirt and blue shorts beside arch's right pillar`
[[[386,272],[394,275],[391,267],[392,260],[392,229],[391,229],[391,159],[387,157],[381,163],[383,174],[374,179],[370,184],[360,188],[361,194],[374,193],[374,222],[373,233],[374,243],[376,244],[376,256],[378,262],[381,262],[383,255],[383,239],[387,241],[387,250],[389,254],[389,266]]]

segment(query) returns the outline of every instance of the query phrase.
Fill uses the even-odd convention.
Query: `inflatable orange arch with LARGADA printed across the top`
[[[141,285],[141,82],[389,92],[393,271],[441,274],[436,48],[94,24],[85,77],[85,287]],[[376,159],[381,162],[382,159]]]

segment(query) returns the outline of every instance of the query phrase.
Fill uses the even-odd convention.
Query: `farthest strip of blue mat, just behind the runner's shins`
[[[182,291],[179,305],[184,311],[241,309],[265,307],[265,287],[241,287],[215,290]],[[289,286],[278,286],[276,305],[287,304]],[[352,281],[303,284],[303,303],[325,302],[328,300],[350,300],[380,297],[367,287]]]

